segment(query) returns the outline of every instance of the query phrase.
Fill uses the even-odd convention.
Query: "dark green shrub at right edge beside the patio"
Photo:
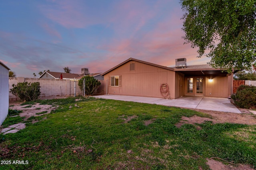
[[[256,108],[256,86],[241,85],[231,97],[240,108]]]

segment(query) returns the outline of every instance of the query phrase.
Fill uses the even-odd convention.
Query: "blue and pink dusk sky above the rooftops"
[[[2,0],[0,61],[20,77],[38,72],[105,72],[130,57],[163,66],[186,58],[179,0]]]

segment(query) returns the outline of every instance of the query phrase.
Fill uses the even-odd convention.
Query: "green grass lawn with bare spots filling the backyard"
[[[182,116],[209,115],[95,98],[39,102],[60,107],[39,115],[47,119],[28,122],[17,133],[0,135],[1,163],[12,162],[1,164],[0,169],[206,170],[206,158],[211,157],[256,166],[256,125],[209,121],[177,128]],[[144,125],[148,120],[152,123]],[[14,160],[24,160],[24,164],[13,164]]]

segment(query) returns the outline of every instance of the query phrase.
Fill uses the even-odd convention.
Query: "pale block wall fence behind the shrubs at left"
[[[99,94],[103,94],[103,80],[99,80],[101,86],[98,89]],[[46,79],[46,78],[24,78],[24,77],[10,77],[9,78],[9,89],[12,89],[12,84],[18,84],[18,82],[39,82],[41,94],[39,99],[54,99],[68,96],[82,95],[82,91],[78,86],[78,79]],[[76,87],[76,92],[74,90]],[[9,102],[20,100],[20,98],[14,96],[9,90]]]

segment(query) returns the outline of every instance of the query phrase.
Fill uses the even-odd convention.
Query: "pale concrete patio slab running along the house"
[[[129,102],[140,102],[147,104],[158,104],[164,106],[186,107],[192,109],[204,109],[213,111],[224,111],[232,113],[241,113],[236,106],[230,103],[228,98],[211,98],[204,96],[182,96],[178,99],[149,98],[140,96],[122,96],[122,95],[100,95],[95,98],[104,98],[112,100],[122,100]]]

